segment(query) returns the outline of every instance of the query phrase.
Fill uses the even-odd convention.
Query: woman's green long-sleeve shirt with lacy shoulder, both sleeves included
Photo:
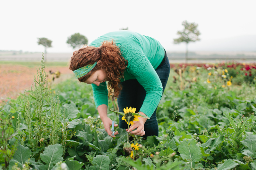
[[[92,41],[89,46],[100,47],[103,41],[110,39],[115,41],[121,55],[128,60],[124,79],[121,79],[121,82],[129,79],[138,80],[146,90],[146,97],[140,111],[151,117],[163,93],[162,83],[155,69],[164,58],[164,48],[155,39],[132,31],[106,33]],[[102,104],[108,105],[106,82],[101,83],[100,86],[92,84],[92,89],[96,107]]]

